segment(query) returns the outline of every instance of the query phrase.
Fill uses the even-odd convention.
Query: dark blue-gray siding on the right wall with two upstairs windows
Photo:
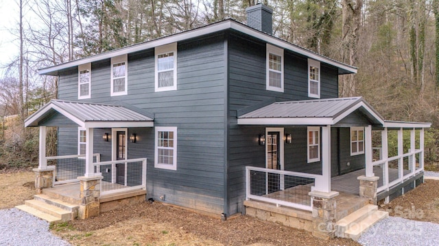
[[[308,98],[307,57],[285,51],[284,92],[266,90],[266,44],[232,32],[228,38],[228,213],[243,211],[245,166],[265,167],[265,148],[257,136],[265,126],[238,126],[237,110],[265,100],[306,100]],[[338,97],[335,68],[321,64],[321,98]],[[268,126],[267,126],[268,127]],[[321,163],[307,163],[307,128],[285,128],[293,143],[285,145],[285,169],[321,173]],[[336,152],[337,149],[333,150]],[[335,158],[334,161],[337,161]]]

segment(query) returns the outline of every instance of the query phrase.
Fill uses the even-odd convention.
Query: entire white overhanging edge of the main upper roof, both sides
[[[163,38],[158,38],[156,40],[150,40],[150,41],[142,42],[139,44],[133,44],[131,46],[126,46],[126,47],[121,48],[121,49],[115,49],[113,51],[100,53],[98,55],[84,57],[82,59],[77,59],[75,61],[69,61],[69,62],[59,64],[56,66],[41,68],[41,69],[38,69],[38,73],[45,74],[45,75],[57,75],[59,70],[72,68],[75,66],[79,66],[81,64],[86,64],[86,63],[94,62],[94,61],[100,61],[103,59],[109,59],[111,57],[116,57],[118,55],[125,55],[128,53],[143,51],[145,49],[152,49],[156,46],[170,44],[173,42],[179,42],[181,40],[187,40],[190,38],[196,38],[199,36],[204,36],[204,35],[207,35],[210,33],[215,33],[217,31],[224,31],[227,29],[233,29],[236,31],[240,31],[241,33],[246,33],[250,36],[253,36],[255,38],[258,38],[260,40],[268,42],[270,44],[274,44],[276,46],[279,46],[283,49],[287,49],[289,51],[293,51],[293,52],[298,53],[300,55],[305,55],[306,57],[309,57],[311,59],[316,59],[317,61],[321,61],[325,64],[335,66],[336,68],[338,68],[339,74],[348,74],[348,73],[356,73],[357,72],[357,68],[355,68],[353,66],[349,66],[349,65],[344,64],[340,61],[336,61],[335,59],[331,59],[329,57],[319,55],[318,53],[315,53],[315,52],[310,51],[308,49],[297,46],[296,44],[292,44],[292,43],[289,43],[285,40],[281,40],[280,38],[276,38],[274,36],[268,35],[267,33],[263,33],[262,31],[259,31],[257,29],[253,29],[251,27],[248,27],[247,25],[239,23],[236,20],[226,19],[226,20],[219,21],[217,23],[212,23],[210,25],[206,25],[204,27],[198,27],[195,29],[191,29],[189,31],[183,31],[181,33],[176,33],[176,34],[166,36]]]

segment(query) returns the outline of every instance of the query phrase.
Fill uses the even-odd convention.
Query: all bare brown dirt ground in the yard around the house
[[[33,178],[32,172],[0,173],[0,208],[31,199]],[[382,209],[392,216],[439,223],[439,181],[426,180]],[[221,221],[158,202],[60,223],[51,230],[72,245],[359,245],[345,238],[320,241],[309,232],[244,215]]]

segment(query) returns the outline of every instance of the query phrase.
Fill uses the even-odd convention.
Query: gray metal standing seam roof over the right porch
[[[238,118],[335,118],[359,102],[361,97],[274,102]],[[375,112],[376,113],[376,112]],[[377,115],[379,115],[377,113]]]

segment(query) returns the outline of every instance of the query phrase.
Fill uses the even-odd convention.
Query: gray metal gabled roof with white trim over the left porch
[[[66,100],[51,100],[30,115],[25,120],[25,126],[40,126],[40,122],[47,121],[47,118],[54,113],[60,113],[71,122],[84,128],[154,126],[152,113],[141,112],[140,109]]]

